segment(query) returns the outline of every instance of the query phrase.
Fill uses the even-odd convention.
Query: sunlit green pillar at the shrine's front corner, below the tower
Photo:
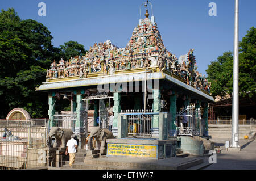
[[[153,89],[153,112],[160,112],[160,98],[161,92],[159,89]],[[159,115],[153,115],[152,128],[159,128]]]

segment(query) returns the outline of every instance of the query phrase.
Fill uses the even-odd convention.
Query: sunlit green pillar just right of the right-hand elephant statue
[[[120,100],[121,96],[119,92],[114,92],[114,106],[113,106],[113,112],[114,112],[114,119],[113,119],[113,126],[112,126],[112,133],[114,136],[118,137],[118,121],[121,121],[121,118],[119,117],[121,112],[121,105]],[[119,135],[121,137],[121,135]]]

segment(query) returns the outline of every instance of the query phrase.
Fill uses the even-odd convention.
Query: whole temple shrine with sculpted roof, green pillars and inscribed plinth
[[[89,111],[93,126],[107,129],[113,114],[110,129],[117,139],[107,141],[110,156],[127,155],[113,146],[141,145],[139,149],[152,153],[129,156],[172,157],[180,144],[186,149],[185,138],[208,136],[208,103],[214,102],[210,82],[197,71],[193,49],[177,58],[164,47],[148,3],[125,48],[106,40],[83,56],[53,61],[46,82],[36,87],[48,93],[49,127],[65,125],[86,137]],[[70,101],[71,111],[56,112],[55,103],[63,98]],[[61,120],[69,122],[58,124]]]

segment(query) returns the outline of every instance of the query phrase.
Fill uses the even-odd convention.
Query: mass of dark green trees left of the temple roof
[[[32,117],[47,117],[47,94],[35,91],[46,81],[53,60],[85,53],[84,46],[69,41],[53,47],[51,32],[42,23],[22,20],[14,9],[0,13],[0,117],[16,107]]]

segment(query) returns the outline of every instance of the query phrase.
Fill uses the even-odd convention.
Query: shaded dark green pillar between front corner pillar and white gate
[[[170,115],[171,115],[171,120],[170,120],[170,132],[171,132],[171,136],[175,136],[176,133],[176,128],[177,126],[175,125],[175,118],[176,118],[176,114],[177,114],[177,92],[176,91],[172,91],[172,95],[170,96]]]

